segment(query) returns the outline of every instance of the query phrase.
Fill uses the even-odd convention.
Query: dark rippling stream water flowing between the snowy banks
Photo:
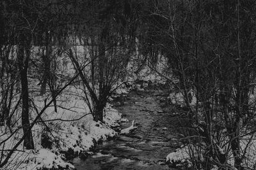
[[[136,94],[131,92],[124,106],[116,107],[130,122],[138,127],[129,135],[98,145],[95,155],[86,160],[74,159],[76,169],[169,169],[166,155],[177,148],[172,113],[163,112],[157,101],[157,92]]]

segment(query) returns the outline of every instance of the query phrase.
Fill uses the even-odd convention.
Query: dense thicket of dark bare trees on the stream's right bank
[[[250,137],[254,134],[255,104],[250,99],[255,35],[246,27],[254,25],[255,3],[159,1],[152,6],[154,29],[148,36],[168,57],[172,76],[179,79],[177,90],[186,105],[182,110],[189,115],[184,134],[191,136],[187,142],[193,166],[243,169],[248,147],[242,148],[241,141],[248,132]],[[194,103],[189,99],[191,90]],[[230,150],[234,165],[228,165]]]

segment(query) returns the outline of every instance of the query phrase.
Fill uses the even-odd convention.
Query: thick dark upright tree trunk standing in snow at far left
[[[29,61],[29,47],[20,43],[18,47],[18,60],[20,71],[21,83],[21,96],[22,96],[22,129],[24,133],[24,147],[26,149],[34,149],[33,137],[29,123],[29,95],[28,95],[28,61]]]

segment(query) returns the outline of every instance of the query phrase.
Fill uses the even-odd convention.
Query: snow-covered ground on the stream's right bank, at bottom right
[[[246,129],[244,129],[246,130]],[[255,134],[250,134],[243,136],[241,138],[241,153],[244,154],[243,166],[248,167],[248,169],[255,169],[256,162],[256,139]],[[221,154],[227,155],[227,162],[225,167],[227,169],[234,169],[234,155],[232,154],[232,150],[229,145],[226,145],[228,139],[224,139],[225,136],[223,134],[223,142],[222,145],[217,145],[218,152]],[[226,137],[227,138],[227,137]],[[188,145],[182,145],[180,148],[177,148],[175,152],[169,153],[166,156],[166,162],[170,164],[172,167],[192,167],[195,161],[204,161],[204,150],[207,150],[207,145],[204,142],[201,143],[190,143]],[[211,170],[219,169],[218,165],[212,167]]]

